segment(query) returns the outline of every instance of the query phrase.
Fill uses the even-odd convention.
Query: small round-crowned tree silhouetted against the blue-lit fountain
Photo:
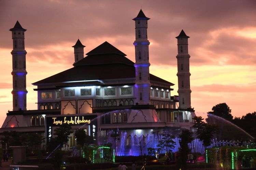
[[[171,134],[163,133],[162,139],[158,141],[157,147],[161,148],[161,150],[165,149],[166,152],[168,153],[170,149],[174,148],[174,145],[175,145],[175,142],[173,141],[174,138],[175,136]]]

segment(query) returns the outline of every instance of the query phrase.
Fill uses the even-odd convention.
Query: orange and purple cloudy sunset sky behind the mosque
[[[12,38],[18,20],[27,51],[27,109],[36,109],[31,83],[72,68],[79,38],[87,53],[104,41],[134,61],[134,21],[148,18],[150,72],[174,83],[177,95],[177,40],[190,36],[191,106],[206,117],[227,103],[241,117],[256,111],[256,1],[0,0],[0,124],[12,110]]]

